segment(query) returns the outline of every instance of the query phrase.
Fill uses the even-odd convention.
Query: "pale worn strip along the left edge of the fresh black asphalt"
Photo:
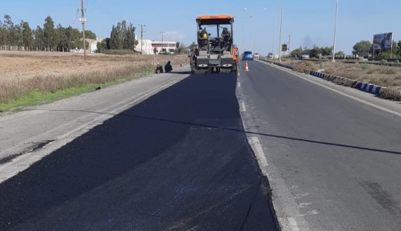
[[[146,98],[149,98],[150,96],[153,96],[154,94],[158,93],[158,91],[167,89],[168,87],[171,87],[172,85],[176,84],[177,82],[180,82],[181,80],[185,79],[188,76],[190,75],[183,75],[182,77],[179,77],[176,80],[162,84],[154,89],[151,89],[150,91],[145,92],[142,96],[139,96],[135,100],[133,99],[126,100],[123,103],[120,103],[119,107],[116,107],[116,109],[111,110],[106,114],[103,114],[102,116],[91,120],[89,123],[82,124],[81,126],[73,129],[72,131],[68,131],[63,135],[56,137],[56,140],[46,144],[41,149],[28,152],[26,154],[23,154],[22,156],[13,158],[13,160],[11,160],[9,163],[0,165],[0,184],[6,181],[7,179],[10,179],[11,177],[14,177],[19,172],[26,170],[28,167],[33,165],[33,163],[40,161],[45,156],[50,155],[53,151],[60,149],[64,145],[75,140],[77,137],[80,137],[84,133],[87,133],[95,126],[103,124],[103,122],[106,121],[107,119],[114,117],[114,114],[123,112],[124,110],[133,107],[137,103],[141,103],[143,100],[146,100]],[[76,121],[72,121],[71,123],[76,123]]]

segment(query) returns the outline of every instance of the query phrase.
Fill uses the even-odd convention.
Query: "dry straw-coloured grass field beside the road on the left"
[[[179,66],[186,56],[106,55],[0,51],[0,103],[32,91],[55,92],[80,84],[99,84],[152,73],[167,61]]]

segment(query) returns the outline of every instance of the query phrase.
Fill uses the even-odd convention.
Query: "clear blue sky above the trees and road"
[[[0,0],[0,6],[1,22],[10,15],[15,24],[24,20],[36,29],[50,16],[55,26],[82,30],[81,0]],[[144,39],[184,45],[196,41],[198,15],[233,15],[234,44],[262,55],[278,53],[280,34],[290,50],[311,49],[332,47],[336,29],[335,51],[345,54],[361,40],[372,42],[375,33],[393,32],[393,40],[401,40],[400,0],[84,0],[84,8],[85,29],[98,38],[109,38],[112,26],[126,20],[138,38],[142,24]]]

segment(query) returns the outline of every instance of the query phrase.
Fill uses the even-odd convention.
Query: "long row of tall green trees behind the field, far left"
[[[85,37],[96,39],[92,31],[85,31]],[[52,17],[47,16],[43,27],[31,29],[29,22],[22,20],[14,24],[10,15],[4,15],[0,20],[0,50],[30,50],[69,52],[82,49],[82,33],[73,27],[54,27]],[[87,46],[86,46],[87,48]]]

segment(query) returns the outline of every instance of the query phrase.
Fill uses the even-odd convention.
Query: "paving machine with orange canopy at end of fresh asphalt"
[[[198,16],[197,49],[191,55],[191,70],[236,71],[238,50],[234,49],[232,15]]]

